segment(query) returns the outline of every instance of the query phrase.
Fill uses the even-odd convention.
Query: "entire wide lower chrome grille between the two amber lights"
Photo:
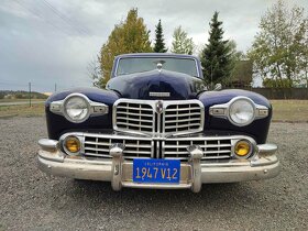
[[[230,138],[168,138],[154,141],[151,138],[113,136],[86,133],[84,135],[84,155],[91,157],[111,158],[109,152],[114,143],[125,145],[123,157],[133,158],[175,158],[189,160],[187,147],[199,145],[204,151],[202,161],[219,161],[231,158]],[[160,145],[157,145],[160,143]]]

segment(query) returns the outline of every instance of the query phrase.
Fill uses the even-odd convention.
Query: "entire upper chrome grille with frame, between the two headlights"
[[[200,132],[205,108],[199,100],[131,100],[113,105],[113,129],[135,134],[189,134]]]

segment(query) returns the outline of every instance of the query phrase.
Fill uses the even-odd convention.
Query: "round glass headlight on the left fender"
[[[64,116],[74,123],[81,123],[90,116],[90,105],[84,95],[69,95],[64,101]]]

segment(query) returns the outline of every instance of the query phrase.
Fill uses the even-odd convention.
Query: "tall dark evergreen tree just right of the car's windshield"
[[[231,48],[228,43],[228,40],[223,40],[222,22],[218,21],[216,11],[210,22],[208,44],[201,53],[206,84],[228,81],[231,72]]]

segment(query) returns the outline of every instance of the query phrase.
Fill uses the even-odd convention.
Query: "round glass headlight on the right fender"
[[[234,100],[229,108],[230,121],[239,127],[250,124],[255,118],[255,106],[248,98]]]

